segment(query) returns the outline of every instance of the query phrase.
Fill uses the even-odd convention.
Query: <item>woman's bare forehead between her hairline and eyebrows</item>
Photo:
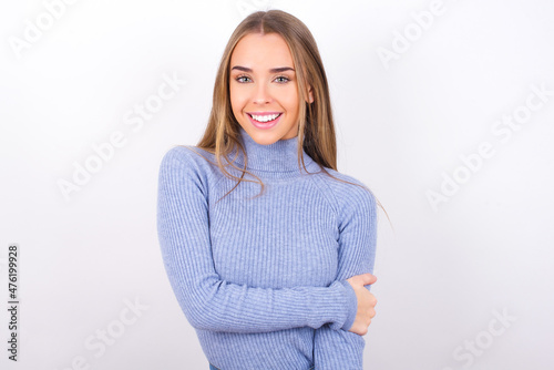
[[[230,64],[232,68],[242,65],[253,70],[294,68],[287,42],[277,33],[249,33],[243,37],[230,55]]]

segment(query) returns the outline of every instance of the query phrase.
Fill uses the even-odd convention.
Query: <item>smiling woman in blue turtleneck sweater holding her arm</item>
[[[160,168],[164,265],[211,369],[362,369],[377,202],[336,152],[311,33],[279,10],[250,14],[204,137]]]

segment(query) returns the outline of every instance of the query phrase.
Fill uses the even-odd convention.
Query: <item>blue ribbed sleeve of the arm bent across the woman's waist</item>
[[[297,327],[351,327],[356,294],[346,281],[329,287],[270,289],[223,280],[209,237],[209,182],[201,156],[183,147],[161,163],[157,232],[164,267],[177,301],[194,328],[267,332]]]

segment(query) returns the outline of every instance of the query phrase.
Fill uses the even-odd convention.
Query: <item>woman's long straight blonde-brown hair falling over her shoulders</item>
[[[230,99],[229,99],[229,69],[230,56],[237,43],[245,35],[249,33],[277,33],[285,39],[293,55],[294,68],[297,74],[297,88],[299,101],[299,125],[298,125],[298,165],[299,168],[304,167],[306,173],[306,165],[301,151],[306,152],[330,177],[349,183],[352,185],[361,186],[350,182],[342,181],[329,174],[324,167],[337,169],[337,143],[335,135],[335,125],[332,120],[329,86],[325,73],[321,56],[316,44],[316,40],[311,35],[306,24],[304,24],[296,17],[284,12],[281,10],[257,11],[245,18],[240,24],[235,29],[223,53],[217,76],[215,80],[213,106],[209,114],[208,124],[204,136],[201,138],[197,147],[215,155],[217,161],[216,165],[222,173],[229,178],[237,179],[237,184],[226,195],[233,192],[240,182],[254,182],[261,185],[264,193],[264,183],[261,179],[246,169],[247,156],[245,148],[238,140],[239,124],[233,114]],[[306,103],[309,96],[309,89],[314,94],[314,102]],[[243,168],[238,168],[234,164],[234,160],[229,161],[228,155],[236,148],[240,151],[245,158]],[[236,152],[238,154],[238,151]],[[198,153],[199,154],[199,153]],[[202,155],[202,154],[201,154]],[[236,156],[235,156],[236,158]],[[206,158],[207,160],[207,158]],[[225,160],[225,164],[223,161]],[[237,177],[227,172],[227,165],[242,172],[242,176]],[[248,173],[256,177],[258,181],[245,178]],[[368,187],[361,186],[371,192]],[[224,196],[224,197],[225,197]],[[223,198],[223,197],[222,197]],[[220,201],[220,199],[219,199]],[[377,199],[379,206],[380,202]],[[384,212],[387,214],[387,212]],[[388,215],[387,215],[388,217]]]

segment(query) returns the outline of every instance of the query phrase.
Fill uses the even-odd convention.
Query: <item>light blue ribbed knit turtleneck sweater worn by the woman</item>
[[[375,197],[302,150],[306,173],[298,137],[261,145],[239,130],[247,169],[266,185],[257,198],[260,185],[242,182],[217,202],[236,181],[196,146],[175,146],[161,163],[158,239],[186,319],[222,370],[361,370],[365,338],[348,331],[358,302],[346,279],[373,271]]]

